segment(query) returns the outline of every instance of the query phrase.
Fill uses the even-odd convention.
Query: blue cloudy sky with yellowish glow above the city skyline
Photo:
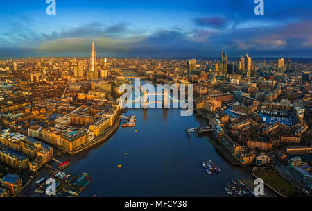
[[[0,1],[0,58],[312,58],[312,1]]]

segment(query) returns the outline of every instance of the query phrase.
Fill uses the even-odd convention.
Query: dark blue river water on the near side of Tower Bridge
[[[64,171],[87,172],[93,179],[80,196],[227,196],[223,188],[232,178],[252,181],[251,168],[232,166],[209,142],[212,137],[187,137],[185,128],[199,126],[199,117],[181,117],[178,109],[131,109],[124,115],[132,114],[135,127],[120,125],[110,140],[96,148],[57,157],[71,162]],[[201,162],[207,160],[222,173],[206,174]],[[35,180],[48,175],[42,167]],[[32,183],[20,196],[32,196],[34,189]],[[275,196],[268,189],[265,192]]]

